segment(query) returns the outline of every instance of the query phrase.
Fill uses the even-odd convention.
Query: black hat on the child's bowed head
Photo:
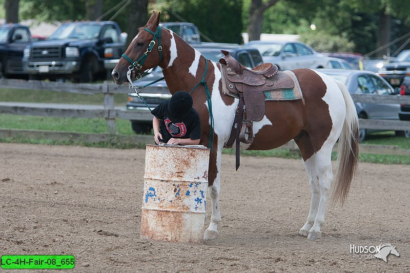
[[[172,95],[168,103],[168,117],[172,119],[185,118],[192,109],[193,100],[191,95],[185,91],[178,91]]]

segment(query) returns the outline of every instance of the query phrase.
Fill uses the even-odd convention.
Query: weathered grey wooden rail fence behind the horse
[[[104,102],[101,106],[90,106],[83,104],[58,104],[58,103],[25,103],[25,102],[0,102],[0,113],[15,115],[37,115],[55,117],[77,117],[77,118],[105,118],[107,121],[107,132],[116,133],[115,119],[128,119],[150,121],[152,115],[148,110],[129,110],[125,107],[114,106],[115,93],[129,93],[127,85],[118,86],[114,83],[66,83],[48,82],[37,80],[0,79],[0,88],[48,90],[55,92],[69,92],[80,94],[104,94]],[[169,94],[167,87],[147,87],[144,93]],[[375,94],[351,94],[356,102],[368,103],[401,103],[410,104],[410,96],[400,95],[375,95]],[[374,120],[359,119],[360,127],[372,130],[410,130],[410,121],[400,120]],[[6,134],[6,131],[8,132]],[[17,132],[6,130],[0,131],[0,135],[16,135]],[[27,131],[27,130],[26,130]],[[41,132],[30,132],[32,135]],[[58,133],[58,134],[61,134]],[[57,135],[58,135],[57,134]],[[44,135],[44,133],[43,133]],[[49,134],[50,135],[50,134]],[[72,133],[71,133],[72,135]],[[95,137],[94,137],[95,138]],[[107,136],[102,136],[102,139]]]

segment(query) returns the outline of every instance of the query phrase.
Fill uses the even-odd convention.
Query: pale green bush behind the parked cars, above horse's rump
[[[299,40],[320,52],[352,52],[355,48],[352,41],[325,32],[306,32]]]

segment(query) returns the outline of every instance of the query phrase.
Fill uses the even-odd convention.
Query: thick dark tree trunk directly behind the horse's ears
[[[129,10],[128,24],[126,32],[127,46],[131,43],[132,39],[137,35],[138,28],[145,26],[148,19],[148,0],[131,0],[131,4],[127,7]]]

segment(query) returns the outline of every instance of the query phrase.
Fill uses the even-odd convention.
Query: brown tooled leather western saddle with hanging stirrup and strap
[[[225,143],[226,148],[232,148],[236,140],[236,170],[238,170],[239,142],[247,144],[253,142],[253,121],[260,121],[265,115],[263,92],[292,89],[294,81],[288,74],[278,71],[276,65],[266,63],[249,70],[229,55],[228,51],[221,50],[221,52],[224,54],[224,57],[219,59],[223,92],[239,98],[231,135]]]

